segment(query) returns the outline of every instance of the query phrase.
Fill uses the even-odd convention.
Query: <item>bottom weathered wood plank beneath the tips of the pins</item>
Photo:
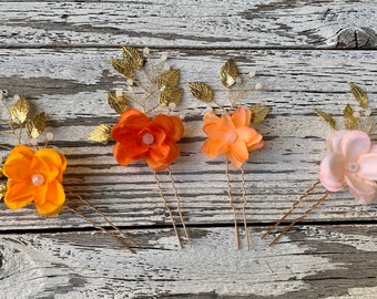
[[[183,250],[171,231],[139,230],[136,255],[101,234],[1,236],[2,297],[375,298],[375,225],[300,227],[273,248],[264,229],[249,251],[233,249],[231,228],[194,229]]]

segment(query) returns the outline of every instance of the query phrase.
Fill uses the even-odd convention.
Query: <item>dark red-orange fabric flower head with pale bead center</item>
[[[175,143],[182,138],[183,131],[177,116],[160,114],[150,121],[139,110],[129,109],[111,131],[116,141],[114,157],[122,166],[145,158],[153,171],[163,171],[180,155]]]

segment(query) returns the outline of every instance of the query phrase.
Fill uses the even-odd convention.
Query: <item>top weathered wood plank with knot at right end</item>
[[[0,47],[375,48],[374,0],[2,1]]]

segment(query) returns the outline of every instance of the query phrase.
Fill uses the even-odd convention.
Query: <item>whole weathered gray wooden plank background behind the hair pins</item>
[[[0,12],[0,89],[47,113],[52,145],[69,161],[64,185],[142,244],[132,255],[69,210],[43,218],[1,204],[1,298],[377,298],[376,205],[332,194],[274,247],[273,236],[261,239],[318,178],[330,130],[312,109],[340,120],[351,81],[368,92],[377,121],[375,0],[1,1]],[[153,173],[143,163],[121,167],[111,145],[86,140],[116,121],[106,92],[124,85],[109,63],[121,44],[166,53],[182,85],[207,82],[220,102],[227,59],[258,73],[263,90],[242,101],[272,107],[258,125],[265,148],[245,164],[251,250],[244,238],[234,248],[225,164],[200,153],[206,105],[187,89],[172,171],[192,248],[177,247]],[[232,178],[241,190],[240,175]],[[161,179],[172,199],[169,176]]]

